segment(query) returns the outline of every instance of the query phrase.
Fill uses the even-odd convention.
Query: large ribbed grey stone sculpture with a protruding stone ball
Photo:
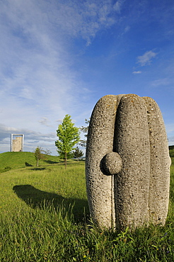
[[[88,127],[86,188],[99,227],[165,224],[170,156],[156,102],[134,94],[103,96]]]

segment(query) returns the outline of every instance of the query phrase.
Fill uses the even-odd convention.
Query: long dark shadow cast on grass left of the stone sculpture
[[[76,222],[82,221],[84,218],[84,210],[88,216],[88,201],[76,198],[64,198],[62,195],[42,191],[31,185],[13,186],[13,191],[27,205],[33,208],[39,207],[44,209],[52,204],[56,209],[60,205],[64,205],[66,210],[69,210],[69,205],[73,206],[73,215]]]

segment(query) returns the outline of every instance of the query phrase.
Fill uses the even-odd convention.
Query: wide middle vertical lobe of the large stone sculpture
[[[150,142],[144,99],[123,96],[115,124],[115,151],[122,159],[115,176],[117,227],[137,227],[148,221]]]

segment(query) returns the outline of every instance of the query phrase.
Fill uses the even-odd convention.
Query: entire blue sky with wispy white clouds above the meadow
[[[136,93],[161,108],[174,144],[173,0],[0,0],[0,152],[56,155],[66,114],[85,125],[102,96]]]

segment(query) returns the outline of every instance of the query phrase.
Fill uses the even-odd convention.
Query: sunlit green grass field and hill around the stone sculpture
[[[35,164],[30,152],[0,154],[0,261],[174,261],[174,163],[166,226],[121,233],[89,221],[84,161]]]

